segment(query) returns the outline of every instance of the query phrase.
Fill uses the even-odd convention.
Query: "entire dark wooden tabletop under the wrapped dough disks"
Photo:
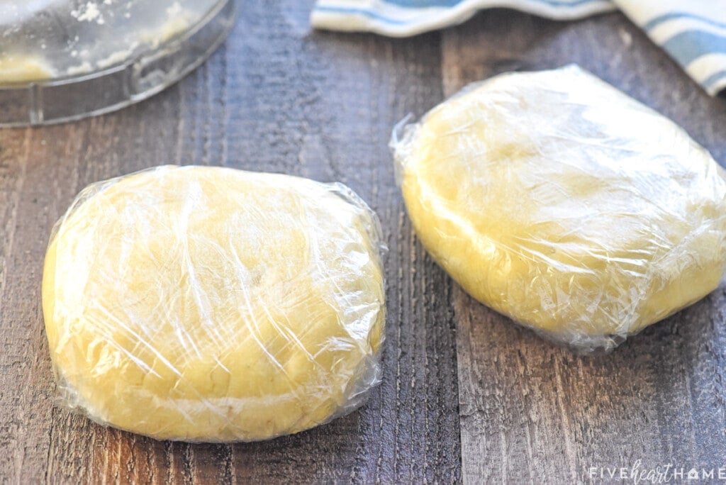
[[[726,99],[618,13],[558,23],[494,9],[396,40],[311,32],[310,8],[242,1],[227,44],[162,94],[86,121],[0,130],[0,482],[560,483],[637,460],[726,466],[724,288],[611,354],[553,346],[431,261],[387,147],[396,121],[470,81],[576,62],[726,164]],[[340,181],[378,212],[387,340],[383,383],[362,409],[296,436],[211,445],[102,428],[55,405],[40,299],[52,224],[86,184],[163,163]]]

